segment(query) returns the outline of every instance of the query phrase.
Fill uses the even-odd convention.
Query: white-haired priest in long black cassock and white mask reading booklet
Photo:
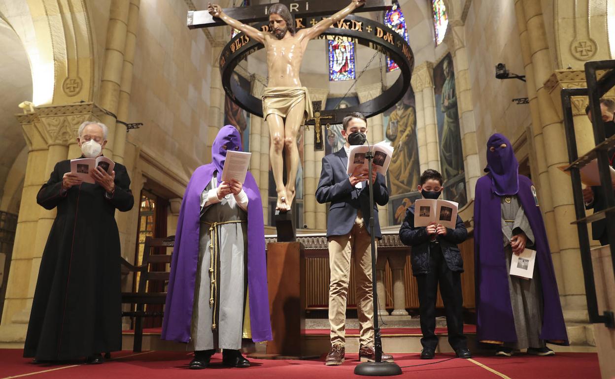
[[[82,158],[96,158],[107,128],[85,122],[77,143]],[[111,174],[89,170],[93,184],[71,174],[71,161],[56,163],[36,196],[46,209],[57,208],[42,253],[30,324],[23,350],[34,362],[103,362],[101,354],[121,350],[120,244],[116,209],[129,211],[134,198],[126,168]]]

